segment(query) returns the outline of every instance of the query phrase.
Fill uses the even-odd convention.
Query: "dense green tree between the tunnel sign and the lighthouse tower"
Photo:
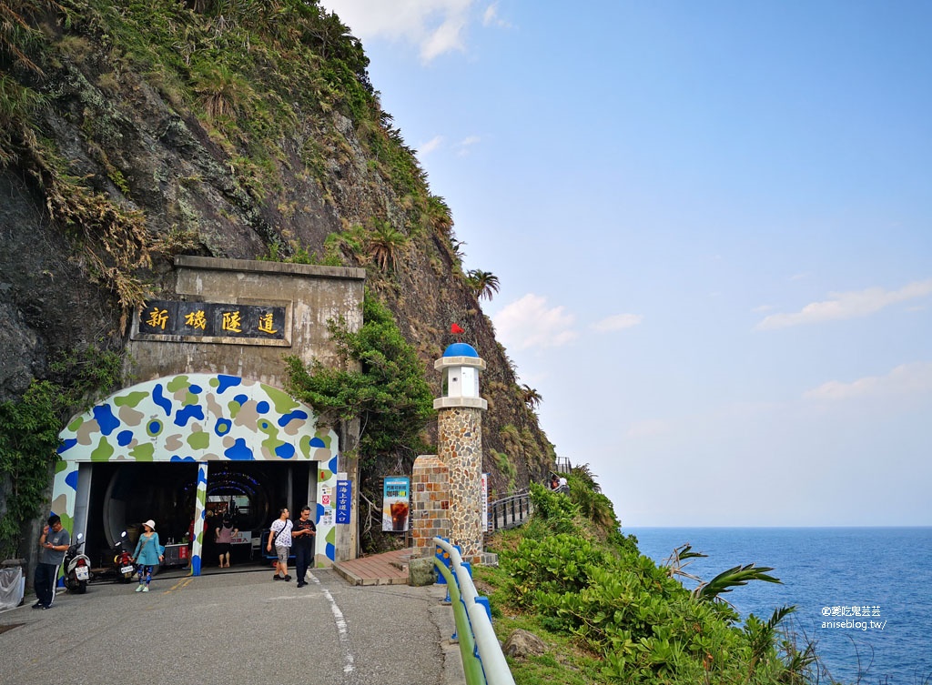
[[[433,394],[417,352],[398,330],[391,312],[369,293],[358,331],[350,331],[342,319],[329,327],[343,357],[342,367],[324,366],[317,360],[306,367],[290,357],[289,390],[324,418],[360,419],[363,470],[371,470],[380,457],[413,462],[430,449],[421,436],[434,416]]]

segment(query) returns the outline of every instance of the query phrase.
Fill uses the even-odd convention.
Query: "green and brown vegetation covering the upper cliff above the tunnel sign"
[[[360,146],[367,171],[354,182],[388,186],[404,211],[391,224],[367,217],[382,227],[349,250],[353,266],[371,257],[391,270],[416,234],[440,239],[452,253],[449,208],[432,196],[414,151],[381,110],[368,64],[360,41],[317,0],[2,2],[0,165],[36,180],[52,219],[84,253],[91,280],[112,289],[126,311],[149,295],[153,256],[200,242],[197,221],[185,212],[186,224],[171,228],[187,234],[184,248],[155,236],[150,208],[137,197],[150,188],[136,182],[123,146],[133,125],[126,101],[141,82],[171,110],[170,129],[197,120],[192,128],[209,137],[219,168],[229,170],[223,192],[256,222],[269,258],[345,263],[339,250],[315,254],[288,226],[267,222],[287,222],[295,212],[287,178],[311,180],[335,201],[333,169],[349,165]],[[56,131],[45,128],[62,116],[79,131],[77,143],[98,163],[99,177],[75,169]],[[265,212],[254,211],[263,204]]]

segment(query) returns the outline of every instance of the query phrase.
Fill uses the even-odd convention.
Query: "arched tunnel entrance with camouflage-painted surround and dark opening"
[[[239,516],[232,555],[240,561],[260,555],[262,531],[281,507],[305,504],[318,527],[315,562],[336,561],[338,438],[281,389],[223,374],[155,378],[76,416],[61,439],[49,508],[84,532],[95,563],[123,530],[134,545],[152,518],[159,542],[174,547],[166,564],[190,559],[199,575],[219,562],[206,549],[216,528],[208,514]]]

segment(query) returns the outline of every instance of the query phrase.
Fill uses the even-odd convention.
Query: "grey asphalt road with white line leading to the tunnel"
[[[293,571],[294,572],[294,571]],[[30,685],[457,685],[453,612],[439,585],[307,586],[268,570],[91,584],[0,613],[0,682]],[[34,599],[34,598],[33,598]],[[7,626],[16,626],[8,628]]]

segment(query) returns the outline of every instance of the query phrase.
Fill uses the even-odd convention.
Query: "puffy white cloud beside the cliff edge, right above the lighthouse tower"
[[[575,317],[560,307],[548,307],[547,298],[528,293],[493,317],[502,344],[509,349],[559,348],[579,334]]]

